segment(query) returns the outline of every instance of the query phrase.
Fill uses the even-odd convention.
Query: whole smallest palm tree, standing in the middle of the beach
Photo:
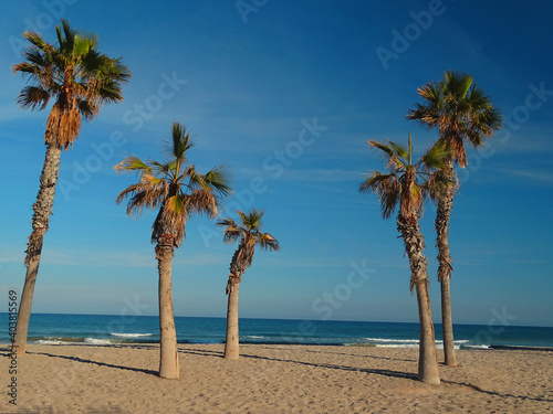
[[[263,211],[253,209],[246,214],[237,210],[241,217],[241,225],[232,219],[223,219],[217,225],[225,227],[225,242],[234,243],[240,238],[232,262],[230,263],[229,280],[227,283],[227,295],[229,296],[227,307],[227,339],[225,341],[225,358],[237,360],[240,355],[238,341],[238,289],[242,275],[253,262],[255,245],[268,251],[278,251],[279,242],[269,233],[261,233],[261,217]]]

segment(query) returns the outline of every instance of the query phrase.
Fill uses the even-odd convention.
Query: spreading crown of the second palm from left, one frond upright
[[[145,162],[132,156],[115,166],[117,172],[135,171],[140,177],[138,183],[122,191],[116,199],[121,203],[129,198],[128,215],[139,215],[144,208],[160,208],[153,225],[153,243],[160,237],[169,237],[171,245],[178,247],[188,219],[198,213],[215,216],[221,198],[231,191],[226,166],[217,166],[201,174],[194,164],[187,164],[187,152],[192,146],[186,128],[174,123],[167,161]]]

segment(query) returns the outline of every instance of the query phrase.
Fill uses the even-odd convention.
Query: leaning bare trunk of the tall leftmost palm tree
[[[46,156],[40,177],[40,189],[36,194],[36,201],[33,204],[33,230],[29,236],[29,244],[25,252],[27,275],[23,291],[21,293],[21,301],[19,304],[15,340],[13,343],[18,357],[25,354],[34,283],[36,282],[36,275],[39,273],[44,234],[48,232],[50,215],[52,215],[52,209],[54,206],[55,184],[58,183],[58,176],[60,173],[61,155],[61,146],[46,145]]]

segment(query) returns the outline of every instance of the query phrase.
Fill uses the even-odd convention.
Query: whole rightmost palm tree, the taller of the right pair
[[[429,129],[438,128],[439,145],[450,152],[447,161],[447,177],[455,179],[453,161],[459,167],[467,167],[467,153],[463,141],[474,148],[484,144],[495,130],[501,129],[501,114],[493,107],[484,92],[477,87],[472,76],[446,72],[445,79],[427,83],[418,89],[425,99],[407,114]],[[441,286],[441,319],[444,332],[444,353],[446,364],[457,367],[453,343],[453,323],[451,317],[450,278],[452,261],[449,253],[449,217],[453,209],[456,187],[448,187],[445,197],[438,201],[436,215],[436,246],[438,247],[438,280]]]

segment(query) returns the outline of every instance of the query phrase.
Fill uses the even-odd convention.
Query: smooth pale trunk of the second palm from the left
[[[169,238],[167,242],[165,238]],[[159,376],[176,379],[179,376],[177,332],[173,312],[171,261],[173,238],[159,237],[156,258],[159,270]]]

